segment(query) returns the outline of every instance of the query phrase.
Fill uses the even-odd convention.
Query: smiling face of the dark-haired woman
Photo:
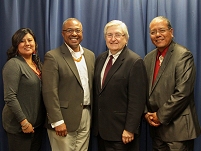
[[[32,56],[36,49],[36,43],[31,34],[26,34],[18,45],[18,53],[24,58]]]

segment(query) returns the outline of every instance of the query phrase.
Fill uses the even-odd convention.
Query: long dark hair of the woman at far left
[[[35,41],[35,47],[36,47],[35,53],[32,54],[32,59],[34,63],[37,65],[38,69],[41,71],[42,64],[40,62],[40,58],[38,55],[38,44],[36,43],[36,37],[33,31],[29,28],[20,28],[14,33],[14,35],[12,36],[12,46],[7,50],[7,60],[19,55],[18,45],[20,44],[24,36],[28,33],[33,36]]]

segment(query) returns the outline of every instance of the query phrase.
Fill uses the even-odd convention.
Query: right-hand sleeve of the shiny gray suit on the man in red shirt
[[[193,56],[189,51],[180,54],[175,67],[175,89],[169,100],[159,108],[157,116],[162,124],[168,125],[178,117],[193,99],[195,66]]]

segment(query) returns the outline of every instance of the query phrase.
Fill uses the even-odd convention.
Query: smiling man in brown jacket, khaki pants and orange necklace
[[[90,134],[94,53],[80,45],[82,24],[64,21],[64,44],[46,53],[42,90],[53,151],[87,151]]]

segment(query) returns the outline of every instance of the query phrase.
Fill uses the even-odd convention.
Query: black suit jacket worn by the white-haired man
[[[101,88],[101,71],[108,51],[95,63],[94,133],[104,140],[122,141],[123,130],[139,133],[147,77],[143,60],[127,47],[111,67]]]

